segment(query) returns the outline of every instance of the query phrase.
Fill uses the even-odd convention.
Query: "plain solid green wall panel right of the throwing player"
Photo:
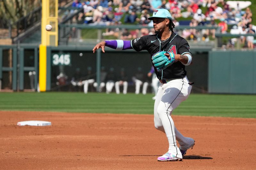
[[[256,94],[256,51],[210,51],[208,92]]]

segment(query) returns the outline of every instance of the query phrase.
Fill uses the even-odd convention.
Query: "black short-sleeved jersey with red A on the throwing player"
[[[161,41],[157,34],[145,35],[132,40],[131,46],[136,51],[147,50],[150,53],[150,58],[158,51],[173,52],[174,54],[181,55],[185,53],[190,54],[188,41],[176,33],[172,33],[172,35],[164,41]],[[183,65],[180,61],[173,63],[161,71],[158,71],[156,68],[154,69],[157,78],[160,80],[174,80],[183,78],[187,74],[185,65]]]

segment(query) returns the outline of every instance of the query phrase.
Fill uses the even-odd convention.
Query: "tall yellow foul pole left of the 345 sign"
[[[52,31],[46,31],[46,25],[52,25]],[[50,90],[47,82],[47,46],[58,46],[58,0],[42,0],[41,44],[39,46],[39,89]],[[48,59],[51,57],[49,56]],[[47,86],[48,85],[48,86]]]

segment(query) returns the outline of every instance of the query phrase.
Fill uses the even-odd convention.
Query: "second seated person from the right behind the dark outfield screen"
[[[128,77],[125,74],[124,68],[121,68],[120,75],[115,83],[116,94],[120,94],[120,86],[123,86],[123,94],[126,94],[128,88]]]

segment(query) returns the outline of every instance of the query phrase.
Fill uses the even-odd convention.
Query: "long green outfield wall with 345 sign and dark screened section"
[[[138,68],[142,69],[146,81],[151,68],[150,55],[147,51],[117,51],[106,48],[106,53],[92,53],[92,47],[59,46],[47,47],[47,91],[77,91],[70,81],[77,69],[81,78],[87,79],[88,68],[100,82],[100,69],[108,72],[114,68],[118,76],[124,68],[128,76],[128,91],[133,92],[132,76]],[[38,49],[39,46],[0,46],[0,80],[1,90],[24,91],[37,90],[38,84]],[[256,51],[191,51],[193,65],[186,66],[187,76],[194,82],[192,93],[256,93]],[[35,71],[33,79],[29,72]],[[66,76],[63,84],[58,84],[58,76]],[[82,89],[81,89],[82,90]],[[97,89],[96,89],[97,91]],[[151,92],[151,88],[148,88]]]

